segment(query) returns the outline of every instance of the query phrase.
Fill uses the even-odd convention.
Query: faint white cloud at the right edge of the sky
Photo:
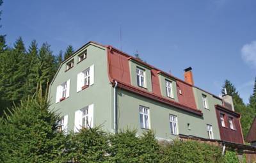
[[[256,68],[256,41],[243,45],[241,56],[246,63]]]

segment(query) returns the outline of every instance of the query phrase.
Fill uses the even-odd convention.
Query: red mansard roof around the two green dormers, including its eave
[[[134,61],[141,63],[151,69],[152,92],[145,91],[144,89],[138,88],[136,86],[132,86],[129,69],[130,59],[134,59]],[[158,74],[161,71],[159,69],[155,68],[154,66],[148,65],[147,63],[144,63],[136,58],[133,58],[132,56],[129,56],[128,54],[125,54],[124,52],[111,46],[108,47],[108,72],[109,80],[113,82],[113,84],[114,81],[117,81],[120,88],[126,89],[127,91],[132,91],[133,93],[143,95],[144,97],[151,98],[152,100],[156,100],[164,104],[172,105],[184,111],[188,111],[202,116],[202,112],[196,109],[193,86],[184,81],[180,81],[180,79],[177,79],[176,77],[171,76],[172,78],[177,80],[177,86],[182,89],[182,95],[177,93],[179,102],[169,100],[161,95],[161,88],[158,78]]]

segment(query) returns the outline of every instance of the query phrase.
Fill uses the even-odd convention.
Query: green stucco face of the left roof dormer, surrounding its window
[[[152,80],[151,80],[151,71],[150,69],[147,68],[147,66],[143,66],[140,65],[139,63],[136,63],[133,60],[129,61],[129,66],[130,66],[130,72],[131,72],[131,84],[132,86],[136,86],[141,88],[140,86],[138,86],[137,84],[137,74],[136,74],[136,68],[141,68],[143,70],[145,70],[145,80],[146,80],[146,90],[152,92]]]

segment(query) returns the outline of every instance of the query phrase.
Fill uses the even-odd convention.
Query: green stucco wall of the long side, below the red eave
[[[141,97],[134,93],[118,89],[118,127],[138,128],[138,134],[143,130],[140,128],[139,106],[143,105],[150,109],[150,125],[159,139],[175,139],[176,136],[170,134],[169,114],[178,118],[179,134],[208,138],[206,125],[211,124],[211,120],[205,120],[202,116],[197,116],[175,107],[161,104],[146,97]],[[212,115],[216,117],[215,115]],[[191,130],[188,129],[190,123]],[[215,123],[217,125],[217,123]],[[216,125],[213,125],[214,139],[220,139],[220,133]]]

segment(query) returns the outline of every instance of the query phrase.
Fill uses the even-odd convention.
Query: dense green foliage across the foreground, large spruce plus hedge
[[[42,91],[0,118],[0,162],[221,162],[221,148],[196,141],[159,143],[152,131],[110,134],[99,127],[58,132]],[[193,151],[193,152],[191,152]]]

